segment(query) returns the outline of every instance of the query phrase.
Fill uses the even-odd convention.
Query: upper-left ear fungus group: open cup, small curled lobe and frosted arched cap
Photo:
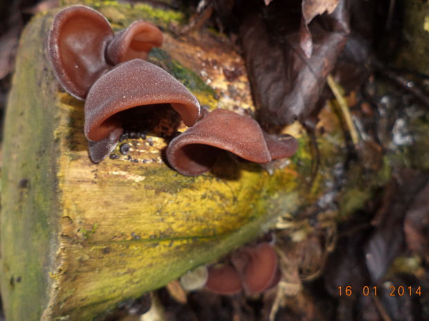
[[[48,57],[63,88],[86,99],[84,131],[93,162],[104,159],[118,143],[122,110],[170,104],[187,126],[197,121],[197,98],[168,72],[143,60],[162,43],[161,30],[146,21],[113,34],[109,21],[85,6],[55,15]]]

